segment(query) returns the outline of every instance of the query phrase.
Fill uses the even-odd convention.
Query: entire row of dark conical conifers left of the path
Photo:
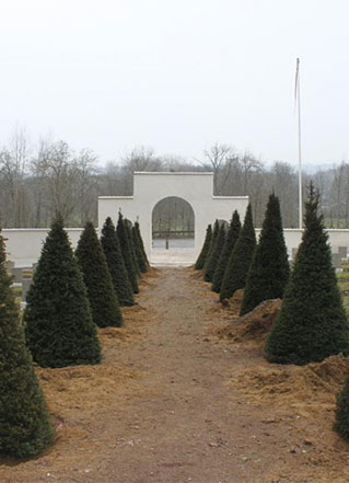
[[[44,243],[21,321],[5,268],[0,230],[0,455],[27,458],[54,439],[33,368],[97,364],[96,326],[120,326],[120,306],[135,304],[138,277],[149,263],[140,234],[119,214],[101,241],[88,221],[73,253],[58,215]]]

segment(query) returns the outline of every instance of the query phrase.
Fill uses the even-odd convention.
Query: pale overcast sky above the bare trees
[[[213,142],[296,162],[349,158],[348,0],[0,0],[0,143],[15,124],[101,162]]]

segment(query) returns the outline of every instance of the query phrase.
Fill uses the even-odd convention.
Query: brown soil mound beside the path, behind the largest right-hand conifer
[[[266,300],[253,311],[225,325],[214,326],[212,334],[221,338],[232,338],[236,342],[254,341],[264,343],[272,324],[280,312],[281,300]]]

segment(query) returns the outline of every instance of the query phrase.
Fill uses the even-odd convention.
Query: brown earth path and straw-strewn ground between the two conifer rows
[[[212,332],[239,312],[217,299],[191,268],[152,271],[125,326],[100,331],[100,366],[37,369],[57,440],[0,482],[348,482],[331,430],[348,361],[269,365]]]

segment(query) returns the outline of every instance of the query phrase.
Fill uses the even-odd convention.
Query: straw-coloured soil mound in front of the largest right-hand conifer
[[[317,410],[327,406],[331,411],[348,370],[349,360],[338,355],[306,366],[256,367],[240,373],[231,384],[255,402],[287,406],[314,404]]]

